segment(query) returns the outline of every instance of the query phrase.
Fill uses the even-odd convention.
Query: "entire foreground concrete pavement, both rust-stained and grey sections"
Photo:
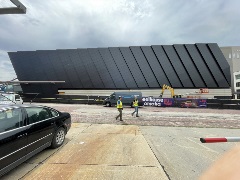
[[[237,133],[237,129],[76,123],[62,148],[39,153],[2,179],[193,180],[237,145],[202,144],[199,138]]]

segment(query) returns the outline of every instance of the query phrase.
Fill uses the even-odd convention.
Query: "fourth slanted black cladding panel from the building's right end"
[[[204,84],[204,81],[202,80],[201,76],[199,75],[199,72],[194,65],[193,61],[189,57],[187,50],[183,45],[173,45],[175,50],[177,51],[184,67],[186,68],[188,75],[192,79],[195,87],[206,87]]]

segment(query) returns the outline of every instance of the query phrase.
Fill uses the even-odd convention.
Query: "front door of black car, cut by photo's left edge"
[[[0,175],[25,161],[27,127],[21,108],[0,110]]]

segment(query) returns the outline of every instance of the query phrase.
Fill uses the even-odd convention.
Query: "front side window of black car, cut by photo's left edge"
[[[23,126],[21,109],[0,111],[0,133]]]

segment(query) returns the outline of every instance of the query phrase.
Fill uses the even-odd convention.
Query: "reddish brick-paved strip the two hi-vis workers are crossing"
[[[73,122],[92,124],[119,124],[115,120],[118,114],[116,107],[101,105],[61,105],[47,104],[61,111],[70,112]],[[171,127],[207,127],[207,128],[240,128],[240,111],[229,109],[196,109],[196,108],[163,108],[143,107],[139,109],[140,117],[132,117],[133,108],[123,109],[126,124],[140,126]]]

